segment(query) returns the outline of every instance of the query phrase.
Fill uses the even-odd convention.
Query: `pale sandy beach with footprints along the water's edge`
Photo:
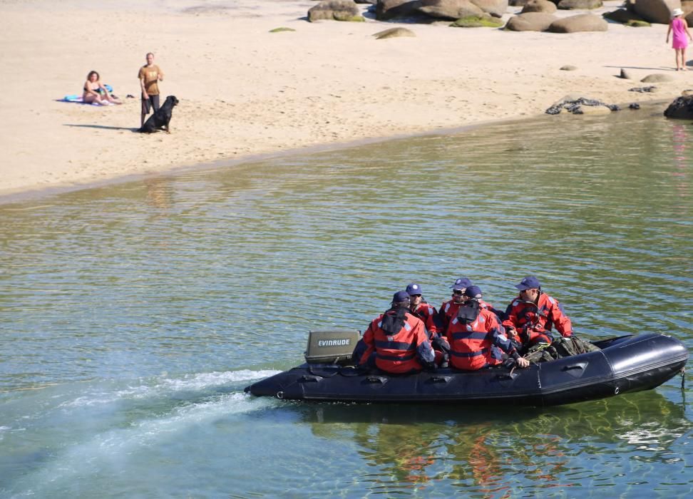
[[[620,3],[607,1],[594,12]],[[566,94],[647,103],[670,101],[693,86],[693,71],[674,71],[661,24],[550,34],[372,16],[365,23],[309,23],[314,5],[0,0],[0,199],[531,117]],[[504,19],[519,11],[509,7]],[[374,38],[394,26],[416,37]],[[295,31],[270,32],[278,27]],[[140,124],[137,73],[148,51],[165,73],[162,95],[180,100],[170,134],[133,132]],[[561,71],[566,64],[577,70]],[[617,78],[621,68],[633,79]],[[58,101],[80,94],[91,70],[113,86],[122,106]],[[657,83],[656,93],[628,91],[645,86],[640,78],[652,73],[674,80]]]

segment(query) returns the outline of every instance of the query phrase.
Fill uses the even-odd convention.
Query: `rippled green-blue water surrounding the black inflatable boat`
[[[693,346],[693,125],[553,117],[0,205],[0,497],[684,498],[693,381],[548,409],[243,393],[419,282]]]

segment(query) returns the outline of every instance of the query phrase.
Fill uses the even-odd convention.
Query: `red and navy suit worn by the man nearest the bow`
[[[573,325],[570,319],[563,313],[557,299],[553,299],[544,292],[539,292],[537,303],[525,302],[517,297],[505,310],[503,326],[514,327],[518,331],[518,339],[523,346],[535,343],[551,343],[553,336],[550,331],[556,326],[563,336],[573,334]]]

